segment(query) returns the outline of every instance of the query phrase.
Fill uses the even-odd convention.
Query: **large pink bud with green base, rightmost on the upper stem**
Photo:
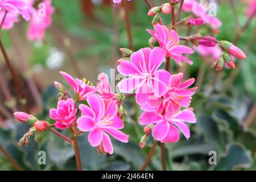
[[[246,58],[245,53],[240,48],[234,46],[234,44],[224,40],[222,40],[220,43],[224,51],[228,52],[230,55],[240,59]]]

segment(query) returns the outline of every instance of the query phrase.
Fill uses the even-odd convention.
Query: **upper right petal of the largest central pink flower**
[[[151,73],[154,73],[160,67],[164,61],[164,57],[166,57],[166,51],[164,51],[164,49],[159,47],[152,49],[148,65]]]

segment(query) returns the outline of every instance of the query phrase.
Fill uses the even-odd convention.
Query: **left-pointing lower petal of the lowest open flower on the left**
[[[89,117],[88,115],[82,115],[77,119],[77,125],[81,131],[90,131],[94,129],[95,122],[92,117]]]

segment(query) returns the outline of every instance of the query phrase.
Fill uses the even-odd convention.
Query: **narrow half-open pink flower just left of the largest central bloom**
[[[111,90],[108,76],[106,76],[105,73],[101,73],[98,75],[98,80],[99,82],[97,83],[97,91],[101,94],[105,107],[107,107],[111,101],[114,101],[115,104],[118,105],[117,98]]]

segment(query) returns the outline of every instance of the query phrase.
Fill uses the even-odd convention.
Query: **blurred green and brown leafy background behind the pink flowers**
[[[153,2],[153,1],[152,1]],[[167,1],[154,1],[161,5]],[[247,16],[247,4],[234,1],[238,23],[242,27]],[[233,41],[236,36],[236,21],[229,1],[219,1],[217,18],[222,21],[218,40]],[[51,121],[48,110],[56,107],[58,93],[53,82],[65,84],[59,71],[65,71],[74,77],[86,77],[97,82],[98,73],[109,74],[110,68],[117,66],[122,57],[121,47],[128,47],[124,11],[122,7],[111,6],[110,1],[53,0],[55,14],[53,24],[47,30],[42,41],[30,42],[26,38],[27,23],[21,20],[10,31],[3,31],[3,43],[20,76],[20,82],[26,90],[28,104],[38,118]],[[148,7],[144,1],[129,2],[130,19],[134,49],[148,47],[151,17],[147,16]],[[182,13],[181,18],[189,14]],[[171,22],[171,15],[162,16],[164,22]],[[192,107],[197,123],[191,125],[191,138],[183,136],[177,143],[166,144],[168,170],[255,170],[256,169],[256,21],[253,19],[241,35],[236,46],[245,51],[247,58],[237,60],[235,70],[224,69],[216,72],[210,68],[210,57],[201,57],[196,52],[191,56],[194,64],[184,63],[185,77],[195,77],[205,67],[202,84],[193,96]],[[180,36],[186,35],[186,28],[178,29]],[[191,34],[200,32],[210,35],[209,27],[200,30],[192,28]],[[184,42],[183,42],[184,43]],[[192,46],[191,44],[188,44]],[[76,65],[75,71],[74,64]],[[6,98],[5,90],[0,89],[0,143],[13,156],[16,162],[26,170],[75,170],[73,147],[52,133],[46,132],[42,142],[30,139],[28,147],[19,147],[18,141],[27,132],[29,126],[14,120],[11,113],[20,110],[16,105],[13,81],[3,59],[0,59],[1,77],[10,90]],[[180,71],[172,61],[171,73]],[[233,75],[233,76],[232,76]],[[146,160],[152,138],[146,147],[139,147],[143,127],[138,125],[141,114],[134,98],[125,101],[125,133],[130,135],[129,143],[113,140],[113,155],[98,155],[96,148],[88,143],[86,134],[79,138],[83,169],[88,170],[128,170],[140,169]],[[254,115],[248,125],[249,113]],[[64,131],[65,135],[69,133]],[[46,151],[46,165],[38,164],[38,151]],[[217,152],[217,165],[208,163],[209,151]],[[13,166],[0,152],[0,170],[13,170]],[[160,146],[151,159],[147,169],[162,170]]]

